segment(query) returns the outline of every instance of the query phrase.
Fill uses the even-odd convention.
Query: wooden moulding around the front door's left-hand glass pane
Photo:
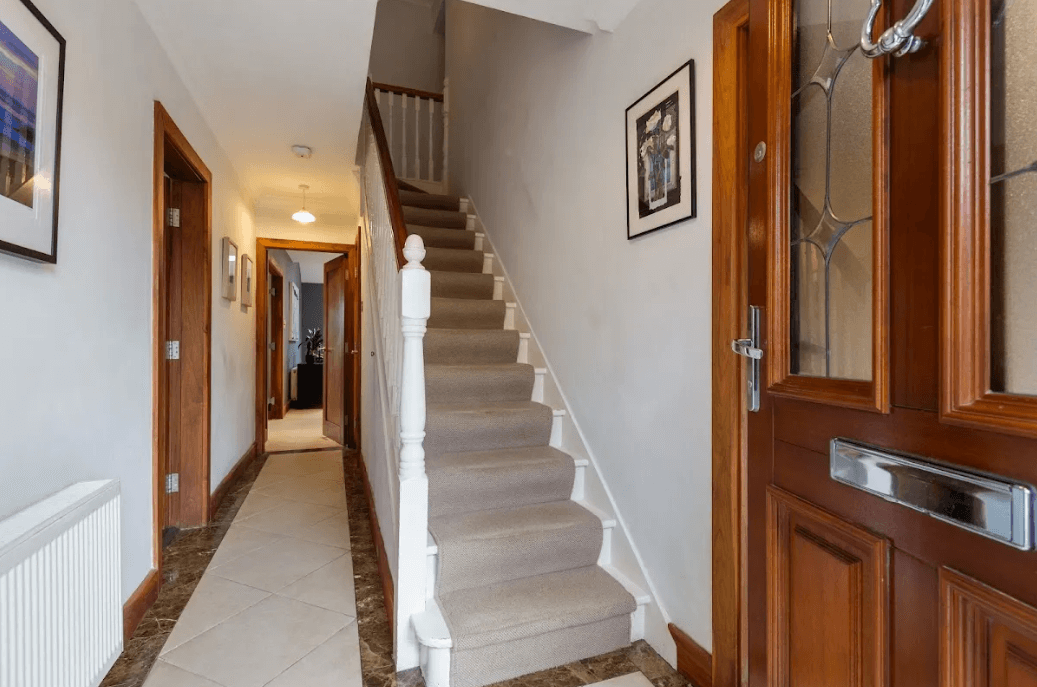
[[[767,391],[774,395],[880,413],[890,411],[889,274],[889,84],[886,60],[872,64],[872,361],[871,381],[791,374],[790,251],[792,0],[768,6],[769,55],[766,97],[767,188],[778,189],[767,208],[768,288],[766,303]],[[882,8],[879,21],[889,12]]]

